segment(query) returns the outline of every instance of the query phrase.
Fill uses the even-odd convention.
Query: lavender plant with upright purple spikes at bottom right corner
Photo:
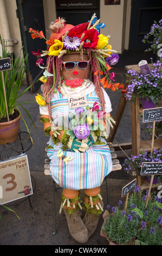
[[[109,245],[162,245],[161,199],[152,193],[146,208],[146,197],[147,191],[139,191],[137,186],[129,194],[126,211],[120,209],[121,201],[112,209],[108,205],[101,236],[106,237]]]

